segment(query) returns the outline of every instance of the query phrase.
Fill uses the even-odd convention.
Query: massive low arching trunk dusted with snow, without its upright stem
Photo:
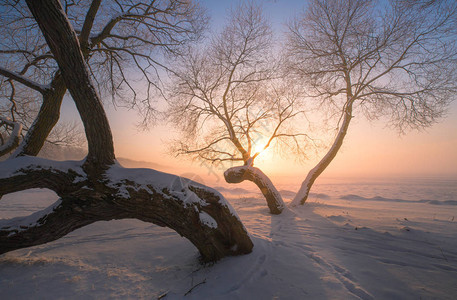
[[[60,200],[30,216],[0,220],[0,254],[59,239],[96,221],[124,218],[175,230],[207,261],[252,251],[246,229],[224,197],[188,179],[114,165],[95,189],[80,162],[19,157],[1,164],[0,195],[48,188]]]

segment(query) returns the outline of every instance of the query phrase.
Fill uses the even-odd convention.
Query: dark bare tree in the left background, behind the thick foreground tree
[[[22,1],[0,2],[0,116],[19,121],[26,135],[13,156],[37,155],[59,120],[66,86],[53,54]],[[193,1],[64,1],[98,92],[116,105],[154,118],[160,69],[206,26]],[[21,33],[21,34],[18,34]],[[138,93],[137,91],[144,91]]]

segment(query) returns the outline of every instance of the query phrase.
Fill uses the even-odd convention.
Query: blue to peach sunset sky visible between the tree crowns
[[[211,16],[212,28],[220,28],[227,10],[237,1],[203,0]],[[262,1],[266,15],[271,18],[276,34],[285,31],[284,23],[302,11],[305,1]],[[158,164],[157,169],[188,177],[197,174],[206,182],[223,181],[223,169],[201,162],[190,162],[183,157],[167,153],[167,140],[176,136],[173,128],[165,125],[139,131],[139,117],[134,111],[107,106],[113,130],[117,157]],[[70,99],[65,100],[64,119],[71,119],[75,109]],[[322,177],[427,177],[457,178],[457,102],[451,105],[448,115],[439,124],[417,132],[399,136],[386,127],[386,120],[374,122],[355,116],[337,157]],[[313,155],[310,160],[298,163],[294,158],[284,159],[262,155],[256,165],[276,183],[300,184],[325,152]]]

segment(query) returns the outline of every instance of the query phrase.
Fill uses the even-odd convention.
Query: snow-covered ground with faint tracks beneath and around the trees
[[[289,202],[296,188],[281,188]],[[0,298],[457,299],[456,180],[321,180],[306,205],[279,216],[254,187],[219,190],[253,253],[201,265],[169,229],[98,222],[1,255]],[[0,218],[50,198],[47,190],[7,195]]]

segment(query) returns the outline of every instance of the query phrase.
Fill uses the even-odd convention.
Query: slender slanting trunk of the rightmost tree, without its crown
[[[352,103],[349,103],[344,113],[343,124],[341,125],[341,128],[338,131],[338,134],[335,138],[335,141],[333,142],[332,147],[327,152],[327,154],[321,159],[321,161],[319,161],[319,163],[309,171],[300,189],[298,190],[294,199],[290,203],[292,206],[296,206],[298,204],[303,205],[306,202],[306,200],[308,199],[309,191],[313,186],[314,181],[316,181],[317,177],[319,177],[319,175],[321,175],[322,172],[324,172],[324,170],[332,162],[332,160],[335,158],[336,154],[340,150],[341,146],[343,145],[343,141],[346,136],[351,120]]]

